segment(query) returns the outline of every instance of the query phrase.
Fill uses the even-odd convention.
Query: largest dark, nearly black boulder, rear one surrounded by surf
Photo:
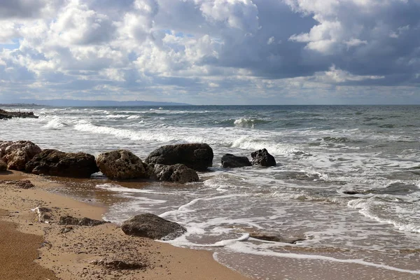
[[[159,165],[182,163],[196,171],[206,171],[213,165],[213,150],[207,144],[167,145],[153,151],[144,161]]]

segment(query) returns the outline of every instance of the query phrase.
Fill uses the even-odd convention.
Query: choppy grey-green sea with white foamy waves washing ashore
[[[12,107],[0,140],[93,155],[207,143],[200,182],[110,181],[57,190],[122,223],[153,213],[187,228],[167,241],[210,250],[252,279],[420,279],[420,106]],[[266,148],[275,167],[225,169]],[[50,180],[56,180],[50,178]],[[276,237],[276,241],[255,239]]]

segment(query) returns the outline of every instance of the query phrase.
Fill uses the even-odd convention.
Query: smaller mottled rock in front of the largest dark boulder
[[[195,170],[186,165],[151,165],[153,166],[153,177],[159,181],[175,183],[190,183],[199,181]]]

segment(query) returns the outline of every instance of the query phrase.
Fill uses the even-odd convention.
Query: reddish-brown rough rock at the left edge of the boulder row
[[[3,161],[7,163],[8,169],[13,170],[25,170],[27,162],[41,153],[41,148],[31,141],[17,141],[11,144],[3,142],[0,148]]]

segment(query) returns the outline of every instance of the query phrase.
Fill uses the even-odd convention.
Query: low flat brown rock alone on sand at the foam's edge
[[[167,221],[153,214],[134,216],[121,225],[121,230],[126,235],[164,240],[175,239],[187,231],[178,223]]]

